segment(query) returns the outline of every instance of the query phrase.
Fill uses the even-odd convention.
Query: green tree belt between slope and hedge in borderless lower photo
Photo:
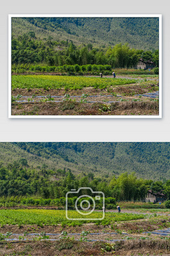
[[[164,191],[170,198],[170,181],[137,179],[135,173],[122,173],[118,177],[95,178],[93,173],[77,177],[71,170],[49,170],[43,164],[39,169],[29,168],[27,159],[20,159],[0,168],[0,196],[41,196],[45,199],[65,197],[71,189],[90,187],[102,191],[105,197],[116,200],[143,200],[148,189]]]

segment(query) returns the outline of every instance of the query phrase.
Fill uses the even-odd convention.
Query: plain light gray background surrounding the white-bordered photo
[[[169,141],[168,1],[8,0],[0,11],[0,141]],[[162,14],[162,119],[8,119],[8,14],[86,13]]]

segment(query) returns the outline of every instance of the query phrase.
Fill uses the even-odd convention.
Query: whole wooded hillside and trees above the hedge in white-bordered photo
[[[12,18],[11,62],[13,69],[22,64],[135,68],[142,58],[159,66],[158,42],[157,18]]]

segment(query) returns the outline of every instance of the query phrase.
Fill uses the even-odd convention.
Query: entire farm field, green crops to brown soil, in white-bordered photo
[[[157,75],[12,75],[12,115],[158,115]]]

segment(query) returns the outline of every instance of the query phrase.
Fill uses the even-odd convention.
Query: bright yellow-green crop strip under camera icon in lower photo
[[[99,219],[101,212],[92,213],[93,219]],[[80,217],[77,211],[69,210],[69,217],[74,219]],[[89,216],[83,216],[89,218]],[[90,216],[91,217],[91,216]],[[66,211],[64,210],[37,210],[37,209],[21,209],[21,210],[0,210],[0,224],[3,225],[81,225],[83,223],[101,223],[102,225],[110,225],[118,221],[144,219],[144,214],[132,213],[105,213],[104,220],[68,220],[66,219]]]

